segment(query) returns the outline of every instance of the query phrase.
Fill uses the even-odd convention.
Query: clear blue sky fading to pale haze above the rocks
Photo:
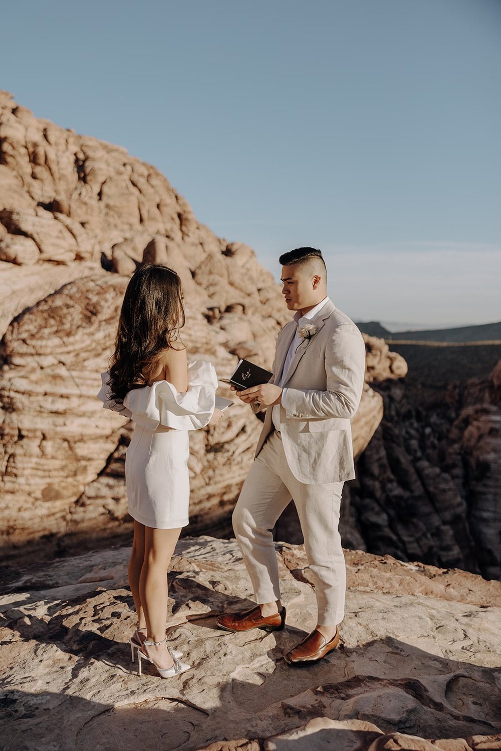
[[[17,0],[0,88],[155,164],[358,320],[501,319],[499,0]]]

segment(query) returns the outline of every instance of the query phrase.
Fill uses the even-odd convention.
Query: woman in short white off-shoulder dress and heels
[[[210,363],[189,363],[180,336],[185,323],[177,273],[145,264],[131,277],[122,303],[110,370],[98,398],[135,422],[125,457],[128,512],[134,541],[128,581],[137,611],[131,653],[163,678],[189,670],[168,645],[168,567],[189,523],[189,430],[219,421],[217,377]]]

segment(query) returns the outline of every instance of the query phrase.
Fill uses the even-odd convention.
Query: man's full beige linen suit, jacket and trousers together
[[[318,623],[344,617],[346,566],[338,531],[343,482],[355,477],[350,418],[364,387],[365,345],[353,321],[328,300],[312,320],[316,333],[297,348],[282,386],[280,430],[267,408],[255,460],[233,514],[235,536],[258,604],[280,599],[271,529],[291,499],[315,577]],[[296,332],[295,321],[276,342],[271,383]]]

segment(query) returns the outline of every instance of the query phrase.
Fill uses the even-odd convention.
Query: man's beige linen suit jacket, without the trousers
[[[330,300],[312,323],[316,333],[299,345],[282,382],[287,394],[280,434],[294,477],[318,485],[355,477],[350,418],[364,387],[365,345],[358,327]],[[280,381],[296,330],[290,321],[279,333],[270,383]],[[272,409],[266,410],[256,457],[273,430]]]

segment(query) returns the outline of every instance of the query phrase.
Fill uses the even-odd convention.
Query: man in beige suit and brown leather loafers
[[[297,248],[279,258],[282,294],[293,320],[276,342],[273,378],[239,391],[267,407],[255,460],[233,514],[258,605],[218,617],[227,631],[285,625],[270,530],[294,499],[309,567],[315,576],[315,629],[285,661],[311,665],[335,649],[343,620],[346,567],[338,524],[343,481],[355,477],[350,418],[361,400],[365,346],[361,333],[327,297],[321,252]]]

